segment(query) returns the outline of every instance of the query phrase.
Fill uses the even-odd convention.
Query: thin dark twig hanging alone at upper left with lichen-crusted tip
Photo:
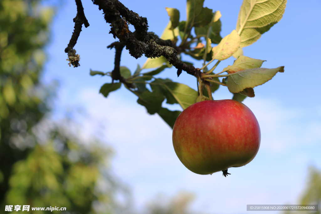
[[[69,61],[69,66],[73,65],[74,67],[78,67],[80,65],[79,64],[80,57],[78,54],[76,54],[76,50],[74,49],[74,46],[76,45],[78,37],[82,30],[82,24],[84,24],[85,27],[87,28],[89,26],[89,23],[85,16],[85,13],[83,12],[81,0],[75,0],[75,2],[77,5],[77,14],[73,20],[75,23],[74,32],[71,36],[68,46],[65,48],[65,53],[68,54],[67,60]]]

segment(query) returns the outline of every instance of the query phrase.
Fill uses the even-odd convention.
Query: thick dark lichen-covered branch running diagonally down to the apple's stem
[[[145,17],[129,10],[118,0],[92,0],[92,2],[103,11],[106,22],[111,26],[110,33],[125,45],[131,56],[135,58],[143,54],[149,58],[164,56],[178,71],[183,70],[194,76],[200,75],[199,69],[177,58],[178,48],[170,40],[162,40],[153,32],[148,32]],[[135,32],[128,29],[128,23],[134,26]]]

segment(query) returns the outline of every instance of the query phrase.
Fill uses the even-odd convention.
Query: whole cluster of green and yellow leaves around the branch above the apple
[[[137,102],[146,107],[149,114],[159,114],[170,127],[173,127],[179,111],[170,111],[162,107],[164,100],[168,104],[179,104],[182,109],[185,109],[195,102],[213,99],[212,93],[220,85],[227,86],[235,100],[243,101],[246,97],[254,97],[253,88],[269,81],[276,73],[284,72],[284,66],[273,69],[261,68],[265,60],[244,56],[243,47],[253,44],[281,20],[285,4],[286,0],[264,2],[244,0],[236,28],[223,38],[221,37],[221,12],[204,7],[204,0],[187,0],[187,17],[182,21],[178,9],[167,7],[169,22],[160,38],[171,40],[175,44],[179,59],[188,55],[203,61],[203,66],[199,69],[203,72],[199,76],[195,75],[198,80],[198,91],[170,79],[155,77],[171,67],[165,55],[148,58],[142,68],[138,66],[133,73],[126,67],[121,67],[121,76],[127,83],[134,85],[131,88],[125,84],[125,87],[138,97]],[[231,56],[236,58],[234,63],[214,73],[218,64]],[[213,61],[216,61],[216,64],[208,68]],[[152,68],[155,70],[142,72],[144,69]],[[182,70],[178,69],[178,76],[181,72]],[[91,71],[91,75],[109,74]],[[120,87],[120,82],[106,83],[101,87],[100,93],[107,97],[109,92]]]

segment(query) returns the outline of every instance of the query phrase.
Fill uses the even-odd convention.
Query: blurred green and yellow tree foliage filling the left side
[[[17,204],[66,207],[65,213],[126,213],[127,190],[108,171],[110,149],[68,131],[73,121],[47,119],[55,90],[40,78],[54,9],[40,5],[0,1],[1,213]],[[119,193],[122,203],[115,199]]]

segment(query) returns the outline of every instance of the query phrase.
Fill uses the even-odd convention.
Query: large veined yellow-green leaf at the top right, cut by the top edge
[[[239,11],[236,30],[240,47],[246,47],[281,20],[287,0],[244,0]]]

